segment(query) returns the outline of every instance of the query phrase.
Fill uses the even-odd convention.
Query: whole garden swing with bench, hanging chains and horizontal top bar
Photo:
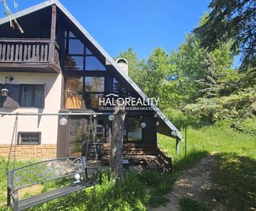
[[[113,113],[6,113],[0,112],[0,115],[11,115],[16,116],[15,125],[13,128],[12,142],[10,145],[9,156],[8,156],[8,165],[6,167],[6,173],[8,174],[8,185],[7,185],[7,205],[12,207],[15,211],[24,210],[29,207],[33,207],[36,205],[40,205],[47,201],[50,201],[55,198],[59,198],[61,196],[65,196],[72,192],[80,191],[82,189],[86,189],[88,187],[93,186],[93,199],[95,195],[95,185],[102,184],[102,173],[100,169],[90,168],[86,166],[87,159],[87,150],[85,157],[64,157],[58,159],[45,160],[42,162],[36,162],[33,164],[29,164],[27,166],[23,166],[21,168],[14,169],[15,167],[15,152],[17,146],[17,120],[18,116],[77,116],[77,115],[89,115],[91,117],[92,124],[92,116],[94,115],[111,115]],[[93,125],[91,125],[93,127]],[[92,130],[93,132],[93,130]],[[8,169],[12,154],[13,147],[13,139],[14,139],[14,157],[13,157],[13,169]],[[95,135],[93,135],[93,143],[95,143]],[[97,152],[96,152],[97,153]],[[96,154],[97,156],[97,154]],[[60,162],[60,160],[64,160]],[[40,166],[40,168],[35,168],[36,166]],[[57,168],[55,168],[57,166]],[[72,168],[73,169],[72,169]],[[32,168],[32,170],[31,170]],[[33,169],[35,168],[35,169]],[[71,170],[70,170],[71,168]],[[89,176],[88,169],[92,169],[96,172]],[[38,174],[38,171],[42,171]],[[20,172],[23,172],[19,175]],[[39,194],[37,196],[32,196],[26,199],[19,199],[19,190],[25,187],[29,187],[31,185],[36,184],[44,184],[44,182],[49,182],[51,180],[56,180],[64,177],[70,177],[74,175],[81,175],[84,173],[84,180],[81,182],[76,182],[74,184],[61,187],[54,191],[45,192],[43,194]],[[30,177],[29,177],[30,176]],[[33,180],[33,176],[37,178],[37,180]],[[40,180],[38,177],[43,176]],[[45,176],[45,177],[44,177]],[[31,178],[32,177],[32,178]],[[25,180],[25,184],[19,184],[20,180]],[[18,183],[18,184],[16,184]],[[13,199],[13,201],[12,201]]]

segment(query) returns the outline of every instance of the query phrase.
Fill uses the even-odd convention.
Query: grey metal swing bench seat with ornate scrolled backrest
[[[45,182],[60,179],[57,184],[63,180],[67,181],[74,175],[79,174],[81,181],[78,179],[70,185],[54,189],[53,191],[31,196],[25,199],[19,198],[19,190],[26,187]],[[77,176],[77,175],[76,175]],[[57,181],[56,181],[57,182]],[[30,164],[22,168],[8,171],[8,198],[7,205],[15,211],[25,210],[29,207],[40,205],[52,199],[71,194],[72,192],[81,191],[88,187],[93,187],[93,197],[95,185],[102,184],[102,175],[99,169],[89,168],[86,166],[84,157],[68,157],[61,159],[46,160]]]

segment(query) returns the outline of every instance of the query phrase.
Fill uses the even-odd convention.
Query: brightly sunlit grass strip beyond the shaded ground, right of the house
[[[185,132],[182,130],[184,136]],[[175,153],[175,139],[158,134],[158,143],[168,155],[173,157],[175,162],[179,157],[184,157],[185,143],[180,142],[179,155]],[[230,129],[228,127],[202,127],[201,129],[188,128],[187,131],[188,152],[208,153],[237,153],[248,157],[256,158],[256,137]]]

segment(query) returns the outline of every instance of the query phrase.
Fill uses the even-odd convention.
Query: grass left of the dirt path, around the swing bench
[[[202,157],[200,153],[198,156]],[[196,156],[195,156],[196,157]],[[191,159],[192,164],[196,159]],[[30,162],[33,162],[32,160]],[[17,162],[15,167],[24,166],[29,162]],[[6,161],[0,160],[0,210],[10,210],[6,207]],[[157,207],[168,201],[164,197],[171,191],[175,182],[175,174],[145,172],[142,174],[126,173],[124,182],[115,185],[108,180],[108,172],[103,173],[102,185],[97,185],[96,195],[93,200],[92,189],[85,189],[62,198],[54,199],[29,210],[147,210],[148,205]],[[23,191],[24,197],[59,187],[60,182],[48,182],[41,187]]]

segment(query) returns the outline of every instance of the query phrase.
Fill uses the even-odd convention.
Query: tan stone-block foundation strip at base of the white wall
[[[10,145],[0,145],[0,157],[7,159],[9,148]],[[15,157],[16,159],[54,159],[56,149],[56,145],[17,145]]]

